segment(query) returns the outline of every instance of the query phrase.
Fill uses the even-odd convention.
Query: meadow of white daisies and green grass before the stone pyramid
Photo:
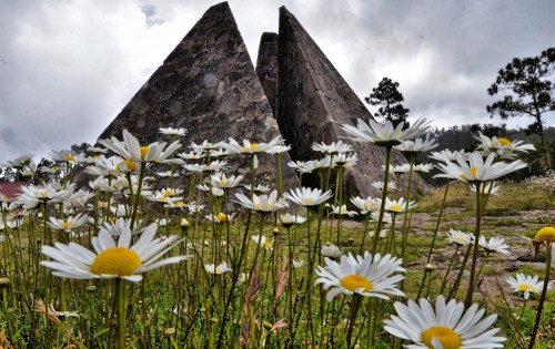
[[[514,253],[484,215],[525,195],[504,197],[503,179],[534,146],[480,134],[473,152],[434,152],[428,130],[343,125],[345,138],[313,144],[321,158],[287,164],[294,188],[281,137],[189,144],[168,127],[140,144],[124,130],[85,154],[53,151],[54,167],[7,161],[24,184],[0,193],[0,348],[555,348],[553,219],[526,243],[542,267],[496,278],[493,299],[482,291]],[[381,195],[344,193],[351,142],[383,151],[383,182],[367,184]],[[406,164],[391,164],[394,150]],[[236,156],[249,175],[230,173]],[[278,158],[273,177],[256,176],[263,156]],[[423,172],[446,178],[434,204]],[[307,173],[319,187],[303,186]],[[471,228],[446,227],[453,198]],[[434,223],[416,236],[418,209]]]

